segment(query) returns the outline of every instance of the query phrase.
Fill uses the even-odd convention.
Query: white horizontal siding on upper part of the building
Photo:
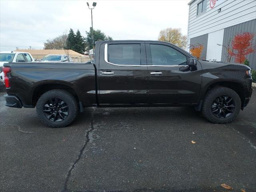
[[[206,12],[196,15],[200,1],[196,0],[189,6],[188,39],[256,18],[256,0],[224,0],[213,9],[207,0]],[[221,12],[218,13],[219,8]]]

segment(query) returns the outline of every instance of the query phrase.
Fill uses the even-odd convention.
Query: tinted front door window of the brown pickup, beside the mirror
[[[152,65],[186,65],[184,54],[166,45],[150,44]]]

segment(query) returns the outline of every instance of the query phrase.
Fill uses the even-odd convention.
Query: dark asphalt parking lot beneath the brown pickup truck
[[[256,191],[255,90],[230,124],[188,107],[86,108],[66,128],[7,108],[3,94],[1,192]]]

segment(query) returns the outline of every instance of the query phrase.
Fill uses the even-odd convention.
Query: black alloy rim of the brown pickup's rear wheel
[[[68,104],[60,98],[51,98],[44,104],[44,115],[53,122],[63,121],[69,113]]]

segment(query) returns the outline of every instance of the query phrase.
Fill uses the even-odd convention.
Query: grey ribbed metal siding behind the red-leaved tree
[[[228,28],[224,29],[224,37],[223,37],[223,45],[227,45],[228,41],[230,40],[230,38],[233,38],[236,34],[240,33],[240,32],[250,32],[250,33],[254,33],[256,32],[256,19],[254,20],[250,20],[248,22],[244,22],[238,25],[234,25]],[[254,37],[253,40],[253,46],[254,46],[254,50],[256,51],[256,36]],[[221,60],[226,62],[226,50],[224,48],[222,48],[222,57]],[[256,52],[253,52],[251,54],[248,54],[246,56],[246,58],[248,59],[248,61],[250,62],[250,67],[253,70],[256,70]],[[234,58],[232,58],[231,62],[234,62]]]

